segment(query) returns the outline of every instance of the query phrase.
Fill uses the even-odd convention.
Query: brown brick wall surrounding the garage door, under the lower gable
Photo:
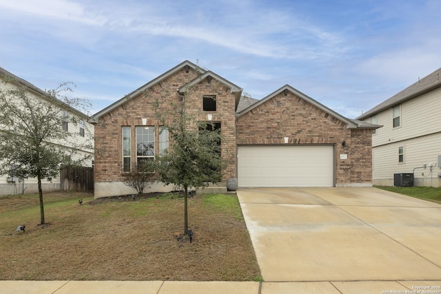
[[[285,145],[284,137],[291,145],[334,145],[336,185],[371,182],[371,130],[347,129],[346,123],[291,92],[274,96],[236,120],[238,145]],[[340,154],[348,154],[347,159]]]

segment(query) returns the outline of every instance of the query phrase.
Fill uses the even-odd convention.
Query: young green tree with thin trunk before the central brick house
[[[184,233],[188,233],[188,191],[207,187],[222,179],[226,160],[220,154],[220,130],[207,121],[199,121],[185,108],[187,94],[174,110],[160,112],[156,101],[155,112],[171,142],[163,154],[156,156],[157,171],[165,185],[174,184],[184,192]]]

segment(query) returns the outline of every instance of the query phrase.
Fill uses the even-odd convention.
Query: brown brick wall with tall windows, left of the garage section
[[[136,131],[135,127],[142,125],[142,118],[147,118],[147,125],[156,126],[158,120],[154,113],[154,103],[159,101],[163,113],[170,112],[169,121],[177,114],[176,109],[182,107],[182,98],[176,91],[179,87],[196,78],[194,70],[180,70],[167,77],[161,83],[153,85],[145,92],[131,98],[123,105],[113,109],[99,118],[95,125],[95,182],[114,182],[122,180],[122,134],[121,127],[132,127],[132,162],[136,158]],[[235,155],[235,112],[234,96],[229,89],[214,79],[206,79],[192,87],[186,97],[186,107],[189,113],[198,120],[207,120],[207,112],[203,112],[203,95],[216,95],[216,112],[213,122],[221,123],[223,156]],[[155,129],[155,152],[158,153],[159,129]],[[234,156],[232,158],[235,158]],[[232,178],[235,174],[236,162],[230,162],[225,170],[224,178]]]

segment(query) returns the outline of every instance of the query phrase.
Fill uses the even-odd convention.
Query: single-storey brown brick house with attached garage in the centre
[[[187,92],[189,88],[193,90]],[[185,95],[187,93],[187,95]],[[188,94],[189,93],[189,94]],[[95,124],[95,198],[134,193],[123,183],[130,162],[168,146],[153,105],[185,103],[198,120],[220,128],[223,180],[239,187],[371,186],[371,132],[285,85],[260,101],[194,63],[183,63],[91,117]],[[149,146],[149,154],[136,146]],[[170,191],[161,183],[151,191]]]

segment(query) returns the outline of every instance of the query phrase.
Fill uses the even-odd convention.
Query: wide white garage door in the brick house
[[[334,147],[239,146],[239,187],[332,187]]]

